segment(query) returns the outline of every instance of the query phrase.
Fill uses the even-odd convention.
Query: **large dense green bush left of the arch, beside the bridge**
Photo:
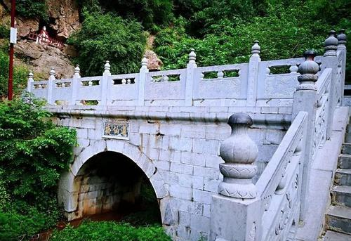
[[[0,102],[0,240],[27,240],[60,217],[57,182],[75,131],[50,117],[39,100]]]

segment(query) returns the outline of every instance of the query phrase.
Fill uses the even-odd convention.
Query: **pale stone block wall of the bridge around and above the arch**
[[[167,214],[163,215],[163,223],[168,233],[171,233],[175,240],[184,241],[197,241],[201,236],[207,237],[211,197],[218,193],[218,184],[223,179],[218,167],[220,162],[223,162],[219,155],[219,147],[220,143],[230,136],[230,126],[225,120],[232,114],[232,110],[218,108],[218,112],[201,114],[202,120],[199,117],[192,118],[193,114],[199,114],[190,111],[171,114],[169,111],[161,111],[160,108],[147,108],[146,112],[147,115],[154,115],[154,118],[142,117],[142,113],[135,112],[135,109],[133,112],[124,108],[123,111],[110,110],[106,117],[96,112],[84,115],[84,110],[79,110],[77,115],[72,115],[72,112],[69,116],[60,114],[56,121],[59,125],[77,129],[77,157],[85,148],[95,142],[100,143],[101,140],[106,142],[104,145],[107,149],[109,145],[123,143],[130,143],[138,148],[154,164],[154,172],[160,174],[168,188],[166,198],[173,212],[171,221],[165,221]],[[254,126],[249,130],[249,136],[258,145],[256,162],[259,174],[269,162],[289,126],[289,115],[269,112],[269,108],[256,108],[256,112],[251,114]],[[104,122],[119,121],[129,125],[128,140],[102,138]],[[114,144],[109,144],[111,140]],[[166,207],[167,205],[161,205],[161,209]]]

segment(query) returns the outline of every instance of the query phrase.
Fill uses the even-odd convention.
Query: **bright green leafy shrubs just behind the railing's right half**
[[[271,4],[267,15],[250,21],[217,19],[206,27],[201,39],[187,34],[186,23],[176,22],[157,34],[155,50],[165,69],[185,67],[190,48],[195,48],[200,66],[243,63],[249,60],[255,39],[260,41],[263,60],[296,58],[311,48],[322,54],[329,30],[336,27],[323,18],[310,17],[309,8],[303,4]]]

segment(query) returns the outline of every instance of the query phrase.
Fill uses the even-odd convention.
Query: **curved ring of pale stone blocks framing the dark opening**
[[[126,141],[114,139],[91,140],[90,145],[81,150],[74,158],[74,162],[69,171],[62,174],[58,188],[58,202],[63,204],[69,220],[74,219],[74,211],[78,209],[79,190],[77,190],[78,187],[74,185],[74,178],[88,159],[102,152],[117,152],[131,159],[144,172],[154,189],[157,200],[159,200],[162,223],[166,226],[175,224],[177,212],[172,207],[173,202],[171,202],[168,196],[166,182],[157,171],[157,167],[155,167],[152,160],[135,145],[131,145]]]

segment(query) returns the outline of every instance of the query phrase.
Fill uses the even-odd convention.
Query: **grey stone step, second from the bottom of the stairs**
[[[351,235],[351,208],[331,206],[326,214],[326,228]]]

